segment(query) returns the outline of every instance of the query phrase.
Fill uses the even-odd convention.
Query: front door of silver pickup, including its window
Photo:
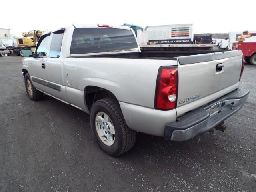
[[[35,56],[29,58],[29,74],[34,86],[47,92],[46,60],[48,55],[50,34],[40,37]]]

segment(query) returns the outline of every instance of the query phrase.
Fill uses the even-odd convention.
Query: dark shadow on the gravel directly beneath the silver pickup
[[[64,104],[50,96],[45,96],[44,102],[49,107],[54,106],[54,113],[58,114],[58,118],[63,118],[63,121],[75,122],[75,125],[71,129],[74,132],[81,132],[83,134],[91,134],[90,130],[90,116],[77,108]],[[44,105],[45,105],[44,104]],[[79,121],[77,121],[79,119]],[[90,132],[90,133],[88,133]],[[139,133],[137,134],[136,143],[134,147],[123,154],[122,156],[116,157],[116,160],[127,162],[134,160],[141,160],[142,162],[148,162],[148,165],[154,164],[168,164],[168,162],[179,163],[180,160],[188,160],[193,158],[196,161],[210,162],[214,159],[212,154],[216,156],[218,152],[220,155],[226,154],[226,141],[223,138],[223,132],[216,132],[213,136],[209,133],[198,136],[192,140],[185,142],[173,142],[167,141],[162,137],[151,136],[148,134]],[[86,138],[94,140],[93,137]],[[86,146],[86,141],[84,141]],[[94,148],[99,148],[96,142]],[[103,153],[101,150],[100,153]]]

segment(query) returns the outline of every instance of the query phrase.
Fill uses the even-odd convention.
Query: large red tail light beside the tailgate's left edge
[[[163,110],[175,108],[178,67],[160,67],[156,86],[156,108]]]

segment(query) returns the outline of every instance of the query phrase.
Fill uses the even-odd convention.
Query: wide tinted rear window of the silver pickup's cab
[[[138,50],[131,30],[114,28],[76,28],[70,54]]]

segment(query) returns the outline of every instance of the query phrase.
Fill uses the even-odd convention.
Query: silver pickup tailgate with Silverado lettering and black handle
[[[176,108],[178,116],[238,87],[242,68],[240,50],[177,58],[179,61]],[[220,94],[216,94],[218,92]],[[188,105],[192,102],[194,104]]]

